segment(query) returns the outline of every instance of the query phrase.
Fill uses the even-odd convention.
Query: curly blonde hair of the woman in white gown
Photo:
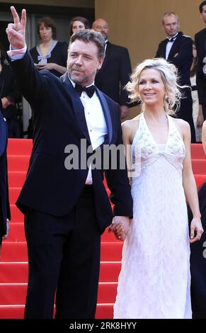
[[[164,109],[168,115],[175,115],[180,106],[181,98],[183,98],[180,89],[187,88],[188,86],[180,86],[178,84],[178,69],[164,58],[147,59],[137,64],[130,77],[131,81],[125,86],[125,89],[130,93],[129,97],[131,101],[142,101],[139,96],[139,77],[142,71],[147,68],[156,69],[161,75],[166,90]],[[143,102],[142,110],[144,111]]]

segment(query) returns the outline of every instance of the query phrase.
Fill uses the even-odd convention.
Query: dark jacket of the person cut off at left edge
[[[0,111],[0,244],[1,237],[6,235],[6,218],[11,219],[8,201],[8,175],[7,175],[7,128],[6,120]]]

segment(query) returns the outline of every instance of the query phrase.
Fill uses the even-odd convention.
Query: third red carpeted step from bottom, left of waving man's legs
[[[0,283],[27,283],[27,262],[0,262]]]

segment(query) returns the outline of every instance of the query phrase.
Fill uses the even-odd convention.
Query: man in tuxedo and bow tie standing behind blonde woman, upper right
[[[176,13],[168,12],[162,18],[162,27],[167,35],[165,40],[159,43],[156,57],[163,57],[168,62],[175,64],[178,69],[179,84],[189,86],[182,89],[183,98],[177,113],[178,118],[190,124],[191,142],[195,142],[195,127],[193,123],[193,99],[190,90],[190,67],[193,62],[192,39],[182,32],[178,32],[180,23]]]

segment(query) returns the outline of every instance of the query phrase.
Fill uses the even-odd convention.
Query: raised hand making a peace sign
[[[21,12],[21,20],[18,16],[16,9],[11,6],[11,13],[13,16],[13,23],[9,23],[6,28],[8,40],[13,50],[22,49],[25,45],[25,23],[26,13],[25,9]]]

